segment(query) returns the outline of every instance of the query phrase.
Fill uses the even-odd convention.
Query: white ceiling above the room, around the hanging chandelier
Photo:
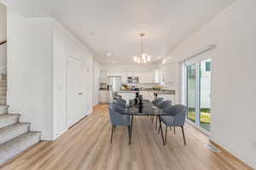
[[[144,51],[168,57],[178,43],[234,0],[0,0],[28,16],[53,16],[73,31],[102,63],[131,63],[138,34]],[[108,57],[107,53],[111,56]]]

